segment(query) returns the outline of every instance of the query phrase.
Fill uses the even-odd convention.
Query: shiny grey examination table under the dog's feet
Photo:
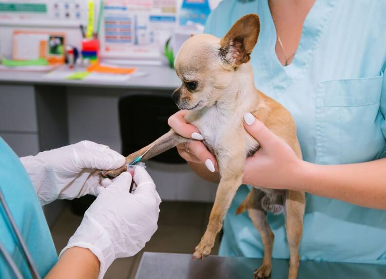
[[[192,260],[190,254],[145,252],[135,279],[253,279],[262,259],[209,256]],[[288,260],[273,259],[271,279],[288,277]],[[298,279],[385,279],[386,266],[301,261]]]

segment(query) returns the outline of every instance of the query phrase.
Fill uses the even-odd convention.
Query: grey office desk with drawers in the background
[[[170,95],[181,84],[170,67],[136,68],[146,76],[132,76],[124,82],[66,80],[49,78],[41,72],[0,71],[0,136],[19,156],[83,139],[120,150],[119,96],[133,91]],[[70,70],[62,66],[55,71]],[[97,116],[92,118],[96,111]],[[108,136],[102,135],[96,123],[104,125],[104,135]]]

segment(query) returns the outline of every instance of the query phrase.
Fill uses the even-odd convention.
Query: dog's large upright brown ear
[[[250,60],[260,32],[259,17],[249,14],[237,20],[220,41],[219,56],[226,64],[236,67]]]

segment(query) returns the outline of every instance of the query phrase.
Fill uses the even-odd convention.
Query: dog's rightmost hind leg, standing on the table
[[[303,234],[306,200],[303,192],[287,191],[286,230],[289,245],[289,279],[296,279],[299,269],[299,244]]]

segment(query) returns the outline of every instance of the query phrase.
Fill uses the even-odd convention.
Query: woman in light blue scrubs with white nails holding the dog
[[[251,54],[255,85],[283,104],[297,124],[303,160],[251,114],[245,129],[261,149],[247,159],[244,183],[307,194],[302,259],[386,264],[385,1],[224,0],[206,33],[222,38],[249,13],[260,18]],[[180,111],[170,126],[199,131]],[[216,160],[197,140],[178,152],[204,179],[218,182]],[[224,221],[221,256],[263,257],[247,213],[235,215],[242,185]],[[269,215],[274,258],[289,258],[284,216]]]

